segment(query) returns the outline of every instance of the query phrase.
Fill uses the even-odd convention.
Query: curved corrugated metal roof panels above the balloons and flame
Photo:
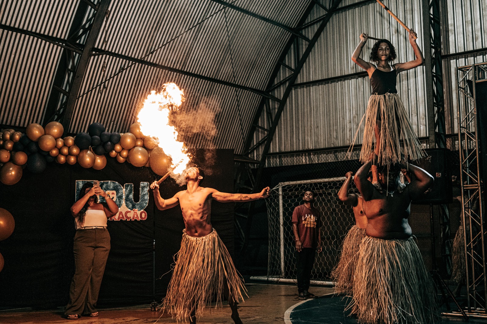
[[[294,27],[310,0],[231,2]],[[0,21],[6,25],[65,38],[77,3],[77,0],[62,1],[61,4],[57,1],[40,0],[2,1]],[[277,58],[290,37],[288,32],[275,25],[230,8],[224,9],[223,5],[211,0],[112,0],[109,10],[108,23],[104,24],[95,47],[135,58],[144,57],[150,62],[257,89],[264,89],[277,64]],[[0,39],[0,46],[9,46],[2,53],[3,57],[16,56],[10,48],[17,46],[22,49],[22,45],[15,41],[6,43],[5,39]],[[36,41],[47,46],[43,41]],[[52,69],[49,70],[52,74],[58,57],[49,61],[43,57],[51,57],[54,52],[59,53],[59,49],[49,46],[52,49],[41,50],[35,60],[39,71]],[[153,50],[156,51],[150,54]],[[2,63],[10,66],[15,62],[13,59],[3,59]],[[102,70],[104,63],[105,72]],[[248,132],[260,100],[258,95],[140,64],[134,64],[115,75],[121,68],[131,64],[132,62],[108,55],[94,56],[90,60],[75,106],[70,132],[86,130],[94,121],[106,124],[112,131],[126,131],[135,121],[135,113],[140,108],[138,105],[148,92],[159,89],[166,82],[174,81],[186,90],[187,102],[182,109],[193,111],[200,105],[205,105],[208,111],[216,114],[216,136],[210,139],[205,134],[193,134],[188,145],[205,147],[208,144],[218,148],[235,148],[236,152],[242,150],[243,137]],[[23,124],[18,124],[10,111],[15,110],[18,115],[25,115],[30,108],[13,104],[1,92],[0,102],[4,103],[2,110],[7,109],[7,114],[2,116],[2,123],[26,126],[28,123],[41,121],[52,75],[40,75],[45,79],[43,83],[47,88],[42,88],[39,93],[42,98],[36,102],[36,114]],[[100,85],[112,76],[112,79]],[[19,72],[15,79],[9,76],[8,82],[21,83],[25,77],[23,72]],[[27,92],[21,96],[29,98]]]

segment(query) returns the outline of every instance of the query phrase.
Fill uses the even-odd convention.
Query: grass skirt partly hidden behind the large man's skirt
[[[335,292],[337,294],[352,294],[358,248],[364,237],[365,229],[354,225],[343,239],[340,261],[332,271],[332,279],[335,281]]]

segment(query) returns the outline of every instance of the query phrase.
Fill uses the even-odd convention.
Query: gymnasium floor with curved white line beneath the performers
[[[245,284],[249,298],[239,305],[240,317],[245,324],[356,324],[356,319],[344,312],[345,300],[333,296],[333,288],[312,287],[319,298],[299,301],[294,285],[250,282]],[[206,310],[197,321],[201,324],[232,324],[230,308]],[[0,310],[2,324],[146,324],[176,323],[166,314],[150,311],[150,305],[100,309],[96,318],[81,317],[69,321],[63,317],[63,306],[51,310],[32,308]],[[465,323],[457,318],[443,318],[443,323]],[[486,320],[472,320],[469,323],[487,323]]]

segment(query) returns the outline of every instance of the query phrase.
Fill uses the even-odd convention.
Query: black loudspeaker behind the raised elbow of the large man
[[[447,148],[428,148],[425,158],[413,162],[414,165],[427,171],[434,178],[433,185],[414,204],[448,204],[452,202],[450,164],[447,160]]]

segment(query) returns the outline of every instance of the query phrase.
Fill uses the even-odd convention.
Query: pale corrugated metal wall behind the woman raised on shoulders
[[[388,6],[418,35],[422,35],[421,0],[388,1]],[[322,9],[315,7],[310,16],[319,17],[323,14],[318,12],[320,10]],[[380,5],[373,2],[340,11],[330,19],[296,82],[309,82],[363,71],[350,59],[359,42],[358,36],[362,32],[370,36],[390,39],[396,48],[395,62],[414,59],[406,30]],[[308,31],[307,36],[311,37],[313,33],[314,30]],[[417,42],[423,49],[423,39],[420,37]],[[373,44],[374,41],[369,40],[362,52],[362,58],[367,61]],[[399,74],[397,83],[398,92],[409,111],[412,126],[418,137],[428,135],[424,69],[418,67],[402,72]],[[270,152],[351,144],[365,112],[370,91],[367,76],[293,88],[274,135]],[[279,97],[277,94],[276,96]],[[262,116],[261,122],[265,124],[263,120]],[[363,125],[356,144],[362,142],[362,130]],[[254,143],[264,135],[263,132],[257,133]],[[257,151],[254,157],[259,158],[261,152],[262,150]]]

